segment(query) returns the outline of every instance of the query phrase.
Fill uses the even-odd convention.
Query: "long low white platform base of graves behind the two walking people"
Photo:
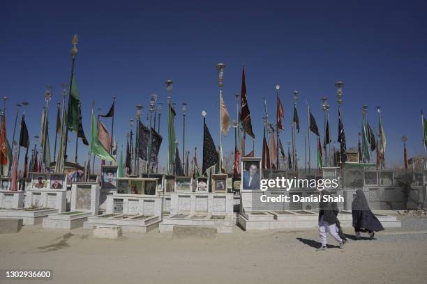
[[[400,228],[401,222],[396,216],[375,214],[384,228]],[[341,211],[338,214],[341,226],[352,226],[352,212]],[[317,228],[318,213],[308,210],[257,211],[239,214],[239,226],[244,230],[274,230],[286,228]]]

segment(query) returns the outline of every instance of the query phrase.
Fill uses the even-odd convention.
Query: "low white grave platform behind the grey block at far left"
[[[47,215],[56,213],[58,210],[53,208],[0,209],[0,217],[22,219],[24,225],[41,224]]]

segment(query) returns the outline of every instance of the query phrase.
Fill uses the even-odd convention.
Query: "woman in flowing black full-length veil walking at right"
[[[357,189],[356,197],[352,202],[353,227],[356,239],[360,239],[360,232],[368,232],[373,239],[375,232],[384,230],[377,217],[370,211],[364,191]]]

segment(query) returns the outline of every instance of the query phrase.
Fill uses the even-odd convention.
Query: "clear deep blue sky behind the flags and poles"
[[[156,92],[166,104],[165,80],[174,81],[172,100],[188,103],[186,148],[202,149],[202,110],[218,145],[218,88],[216,68],[225,68],[224,99],[232,119],[234,93],[240,92],[241,66],[253,127],[255,154],[261,155],[263,97],[269,116],[276,115],[276,84],[285,108],[283,143],[290,139],[292,90],[300,92],[301,132],[298,151],[304,159],[307,100],[323,128],[320,97],[329,98],[331,133],[336,139],[337,104],[334,82],[345,82],[343,118],[347,148],[357,145],[361,107],[377,127],[376,106],[382,107],[387,135],[387,165],[402,164],[408,137],[409,155],[423,155],[420,110],[427,111],[427,4],[425,1],[280,1],[254,3],[153,4],[143,1],[6,1],[0,10],[0,95],[8,95],[7,134],[12,139],[17,102],[28,100],[27,125],[31,137],[40,135],[40,116],[46,84],[54,86],[50,108],[51,148],[54,145],[54,104],[70,74],[70,40],[79,35],[75,76],[82,98],[84,130],[89,137],[91,101],[106,112],[117,96],[114,135],[126,141],[128,119],[135,105]],[[165,108],[164,108],[165,109]],[[165,161],[167,125],[162,114],[160,132]],[[175,125],[182,141],[182,116]],[[105,120],[110,127],[110,120]],[[17,129],[17,135],[19,128]],[[68,144],[74,160],[75,134]],[[17,139],[17,138],[15,138]],[[223,139],[224,150],[234,148],[234,135]],[[250,148],[248,143],[247,148]],[[313,143],[313,152],[315,145]],[[80,161],[88,148],[79,147]],[[181,152],[181,145],[180,145]],[[23,155],[22,155],[23,156]],[[53,157],[53,153],[52,153]],[[300,161],[300,165],[304,162]]]

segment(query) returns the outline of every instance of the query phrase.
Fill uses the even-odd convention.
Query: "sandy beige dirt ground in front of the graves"
[[[352,229],[344,228],[352,237]],[[0,283],[427,283],[427,231],[386,230],[340,250],[316,230],[172,239],[156,231],[93,239],[91,230],[24,226],[0,235],[0,269],[52,269],[53,280]]]

